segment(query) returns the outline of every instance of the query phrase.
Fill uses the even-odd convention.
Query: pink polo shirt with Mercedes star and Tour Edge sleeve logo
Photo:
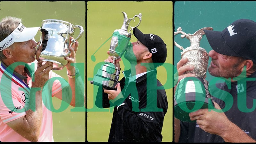
[[[37,61],[35,64],[35,72],[37,68]],[[33,65],[30,67],[33,68]],[[4,74],[3,74],[4,72]],[[28,86],[24,80],[20,80],[16,75],[11,75],[4,66],[0,65],[0,141],[11,141],[11,142],[27,142],[25,138],[20,136],[6,123],[18,119],[26,115],[26,107],[29,103],[29,91],[31,88],[32,78],[28,76]],[[56,73],[50,71],[49,79],[52,77],[60,77]],[[52,78],[54,80],[54,78]],[[62,85],[61,85],[62,84]],[[41,132],[38,141],[53,142],[52,136],[52,111],[51,101],[52,96],[61,91],[61,87],[68,86],[68,82],[55,80],[53,83],[47,83],[44,86],[42,92],[42,103],[43,103],[43,120],[41,124]],[[29,88],[27,88],[29,87]],[[52,93],[52,94],[51,94]],[[49,110],[50,109],[50,110]]]

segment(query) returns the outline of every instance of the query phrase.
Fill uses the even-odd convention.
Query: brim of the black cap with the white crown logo
[[[232,50],[222,36],[222,32],[213,30],[204,30],[207,40],[215,52],[228,56],[240,56]]]

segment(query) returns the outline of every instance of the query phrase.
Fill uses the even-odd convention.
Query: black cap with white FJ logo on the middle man
[[[166,44],[161,37],[155,34],[143,34],[138,28],[133,29],[133,35],[152,53],[152,60],[155,67],[161,66],[167,57]]]

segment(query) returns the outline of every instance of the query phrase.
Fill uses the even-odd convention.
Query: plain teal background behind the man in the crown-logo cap
[[[185,33],[194,34],[197,30],[204,27],[212,27],[215,31],[222,31],[232,22],[239,19],[251,19],[256,21],[256,2],[254,1],[179,1],[174,3],[174,30],[182,28]],[[174,40],[187,48],[190,42],[187,38],[181,38],[181,34],[174,37]],[[207,52],[212,48],[209,45],[206,36],[200,41],[200,47]],[[180,60],[181,50],[176,46],[174,49],[174,65]],[[211,58],[209,58],[210,65]],[[210,82],[213,76],[207,72],[206,79]]]

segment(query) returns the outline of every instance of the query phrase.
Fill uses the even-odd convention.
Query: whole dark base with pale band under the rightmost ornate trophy
[[[188,114],[199,109],[214,109],[209,84],[201,77],[186,77],[179,81],[174,98],[174,116],[186,122],[191,121]]]

